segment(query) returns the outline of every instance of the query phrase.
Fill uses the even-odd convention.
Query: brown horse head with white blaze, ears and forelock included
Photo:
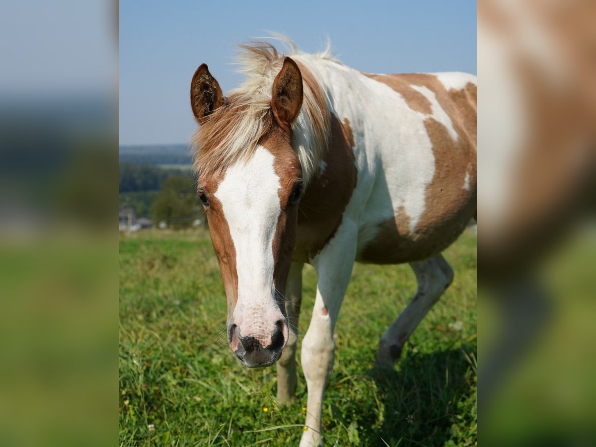
[[[228,344],[247,367],[269,366],[289,337],[284,288],[303,193],[302,166],[291,137],[302,107],[302,76],[285,58],[269,103],[260,108],[256,133],[243,128],[252,99],[225,98],[205,64],[193,76],[190,97],[201,125],[197,196],[228,300]],[[231,150],[247,134],[256,138],[240,151]]]

